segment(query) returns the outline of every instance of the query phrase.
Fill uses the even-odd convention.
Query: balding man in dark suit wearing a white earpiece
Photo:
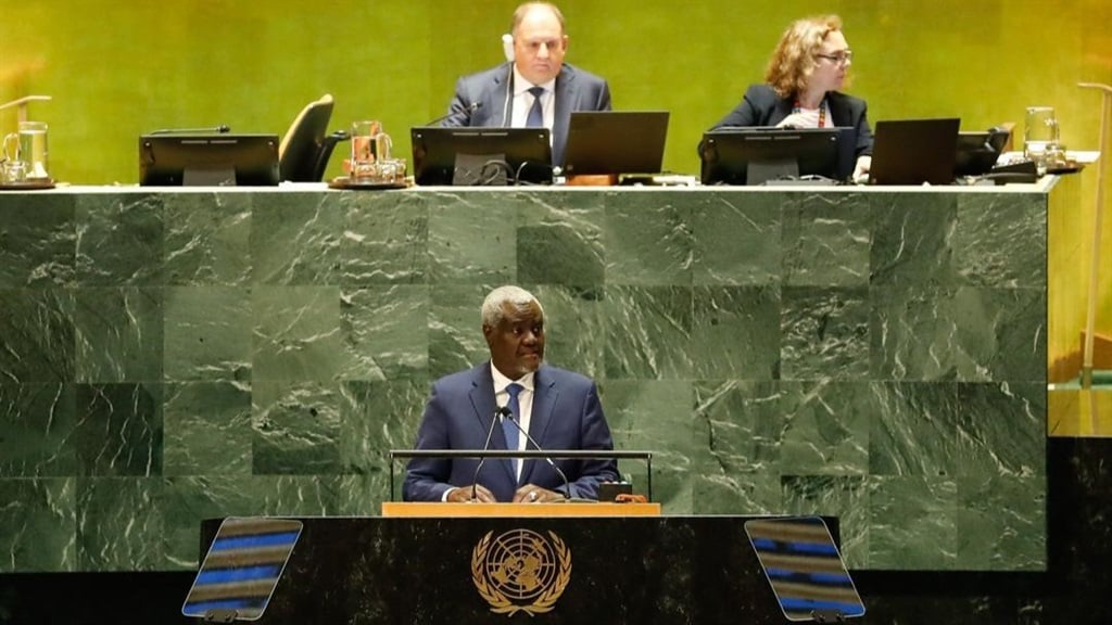
[[[610,110],[610,89],[602,78],[564,62],[567,34],[554,4],[522,4],[510,32],[514,61],[460,78],[441,125],[548,128],[553,165],[563,167],[572,111]]]

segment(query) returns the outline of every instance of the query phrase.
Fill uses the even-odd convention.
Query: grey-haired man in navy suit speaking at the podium
[[[512,419],[542,449],[613,449],[610,429],[589,378],[550,367],[545,355],[545,314],[519,287],[499,287],[483,302],[483,336],[490,360],[433,383],[417,430],[417,449],[533,449]],[[489,434],[488,434],[489,433]],[[545,459],[414,458],[406,472],[407,502],[553,502],[597,499],[598,484],[617,479],[613,459],[553,458],[568,485]],[[570,492],[568,492],[568,489]]]

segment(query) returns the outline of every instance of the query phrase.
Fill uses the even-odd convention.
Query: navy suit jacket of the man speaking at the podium
[[[542,365],[534,377],[529,436],[542,449],[613,449],[610,429],[603,416],[598,390],[589,378]],[[494,378],[485,363],[433,383],[425,416],[417,430],[417,449],[483,449],[495,415]],[[492,449],[505,449],[502,427],[494,426]],[[532,445],[528,448],[533,448]],[[572,497],[596,499],[600,482],[617,479],[614,460],[555,459],[567,475]],[[406,472],[403,497],[407,502],[439,502],[451,486],[470,487],[475,458],[414,458]],[[518,486],[535,484],[564,492],[564,480],[543,459],[528,459],[522,479],[515,479],[509,462],[490,458],[483,464],[478,482],[499,502],[509,502]]]

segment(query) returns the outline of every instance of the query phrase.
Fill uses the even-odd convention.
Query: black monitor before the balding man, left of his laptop
[[[547,128],[416,127],[410,131],[419,186],[552,182]]]

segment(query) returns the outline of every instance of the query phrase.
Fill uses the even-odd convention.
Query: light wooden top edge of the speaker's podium
[[[383,502],[383,516],[661,516],[661,504],[455,504]]]

